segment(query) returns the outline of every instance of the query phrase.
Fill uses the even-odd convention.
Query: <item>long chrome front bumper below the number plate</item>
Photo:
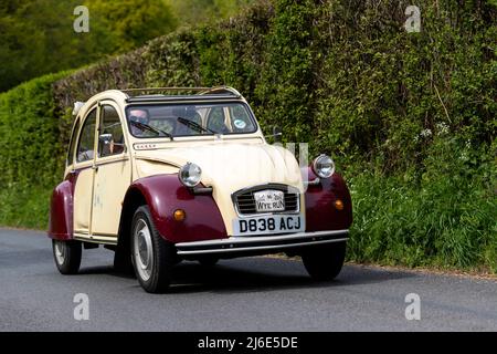
[[[330,230],[298,232],[278,236],[231,237],[209,241],[176,243],[178,256],[219,256],[239,257],[246,254],[264,254],[288,249],[345,242],[349,239],[349,230]]]

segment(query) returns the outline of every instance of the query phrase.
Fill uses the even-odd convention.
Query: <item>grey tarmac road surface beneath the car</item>
[[[299,261],[260,257],[181,263],[171,292],[156,295],[112,263],[112,251],[86,250],[81,274],[61,275],[43,232],[0,229],[0,331],[497,330],[494,280],[346,266],[316,283]],[[74,319],[77,293],[88,320]],[[409,293],[419,321],[405,317]]]

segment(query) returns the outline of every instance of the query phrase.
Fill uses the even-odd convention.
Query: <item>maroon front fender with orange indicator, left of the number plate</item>
[[[189,242],[228,238],[221,212],[211,195],[193,195],[178,175],[157,175],[136,180],[128,192],[139,190],[162,238]],[[183,209],[186,219],[176,221],[175,210]]]

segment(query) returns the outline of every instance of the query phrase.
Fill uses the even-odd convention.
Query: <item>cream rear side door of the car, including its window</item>
[[[96,149],[96,118],[98,107],[93,107],[82,119],[74,156],[74,173],[77,175],[74,186],[74,236],[91,235],[92,191],[94,160]]]

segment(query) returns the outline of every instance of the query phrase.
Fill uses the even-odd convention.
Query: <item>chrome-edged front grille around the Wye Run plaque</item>
[[[247,189],[242,189],[233,194],[233,202],[235,205],[239,215],[254,215],[257,214],[255,209],[254,192],[265,190],[265,189],[276,189],[284,192],[285,198],[285,210],[274,211],[275,214],[282,212],[298,212],[299,211],[299,196],[297,188],[285,186],[285,185],[263,185],[256,186]]]

